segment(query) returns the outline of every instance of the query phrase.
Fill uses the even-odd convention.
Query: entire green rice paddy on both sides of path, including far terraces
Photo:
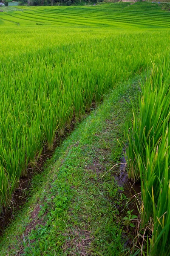
[[[170,251],[170,12],[157,3],[0,7],[0,209],[20,177],[124,81],[145,74],[127,128],[147,255]],[[164,248],[164,249],[163,249]]]

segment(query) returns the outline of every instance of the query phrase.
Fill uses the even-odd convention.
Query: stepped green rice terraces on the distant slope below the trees
[[[146,27],[169,27],[170,14],[162,12],[159,5],[119,3],[117,5],[86,7],[18,7],[22,12],[1,14],[1,19],[25,25],[42,23],[56,26],[119,26],[128,24]],[[30,23],[31,25],[31,23]]]

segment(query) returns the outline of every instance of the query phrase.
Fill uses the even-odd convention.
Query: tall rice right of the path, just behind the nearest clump
[[[139,164],[137,157],[146,156],[146,143],[157,146],[163,134],[164,126],[170,120],[170,73],[169,61],[166,58],[157,67],[153,64],[150,78],[142,86],[142,97],[139,96],[139,113],[133,111],[132,126],[127,132],[129,164],[128,176],[133,181],[139,180]],[[164,124],[164,125],[163,125]]]

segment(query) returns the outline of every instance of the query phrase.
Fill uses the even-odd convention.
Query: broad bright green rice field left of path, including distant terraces
[[[155,81],[159,63],[162,84],[159,75],[169,72],[170,12],[157,3],[0,9],[3,211],[20,177],[38,168],[42,150],[52,151],[111,90],[135,75],[149,76],[151,67]]]

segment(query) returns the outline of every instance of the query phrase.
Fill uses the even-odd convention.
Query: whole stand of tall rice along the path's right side
[[[139,113],[133,113],[127,134],[129,177],[141,180],[142,227],[152,233],[147,255],[170,250],[170,62],[153,64],[142,86]]]

